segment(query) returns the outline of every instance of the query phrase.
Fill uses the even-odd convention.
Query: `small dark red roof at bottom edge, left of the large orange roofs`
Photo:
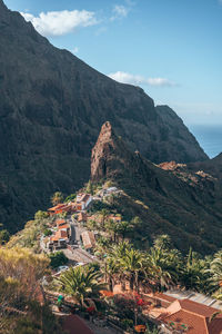
[[[68,315],[62,327],[69,334],[94,334],[78,315]]]

